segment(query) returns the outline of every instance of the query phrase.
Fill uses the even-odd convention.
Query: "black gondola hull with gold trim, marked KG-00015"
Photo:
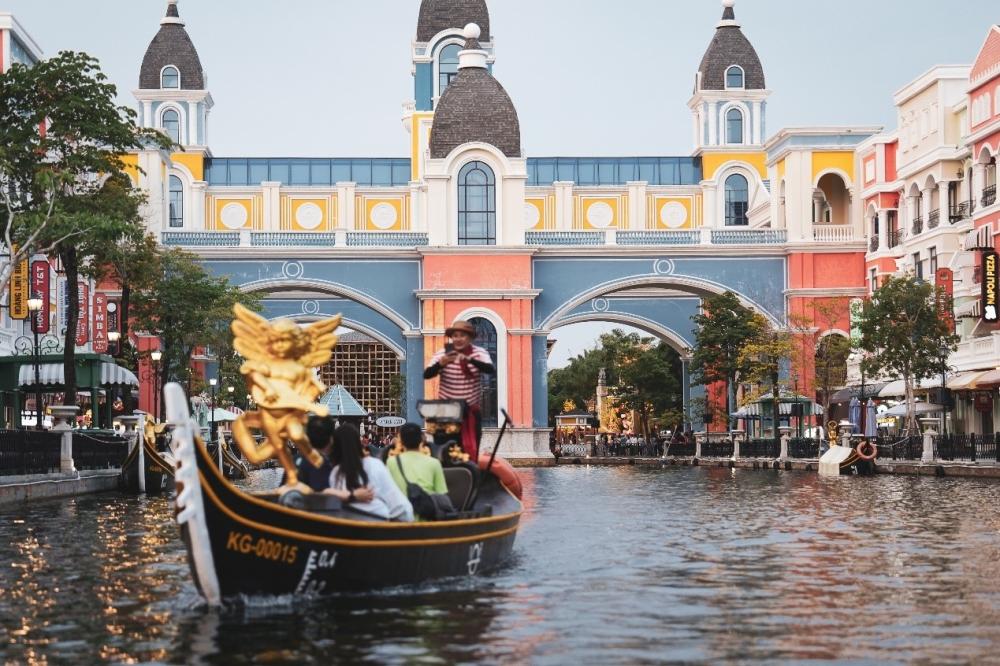
[[[497,473],[482,475],[474,504],[458,519],[389,522],[327,495],[298,495],[290,502],[292,493],[279,497],[277,491],[235,487],[196,436],[181,387],[168,385],[165,399],[174,424],[177,521],[195,583],[209,604],[476,576],[511,554],[522,506],[500,481],[503,476],[508,485],[518,485],[516,473],[499,458]]]

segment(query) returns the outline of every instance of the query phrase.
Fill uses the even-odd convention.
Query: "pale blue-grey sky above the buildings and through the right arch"
[[[489,0],[497,62],[528,156],[687,155],[687,101],[719,0]],[[215,100],[216,156],[404,157],[419,0],[181,0]],[[121,102],[165,0],[0,0],[47,55],[96,56]],[[893,93],[971,63],[997,0],[737,0],[764,66],[767,135],[895,125]],[[583,325],[551,364],[591,346]],[[606,327],[603,327],[606,328]],[[600,328],[600,330],[603,330]],[[577,330],[583,333],[577,334]],[[589,337],[588,337],[589,336]]]

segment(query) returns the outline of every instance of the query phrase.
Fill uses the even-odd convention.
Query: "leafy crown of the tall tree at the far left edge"
[[[108,178],[124,176],[121,155],[170,145],[137,127],[116,95],[97,60],[83,53],[64,51],[0,74],[0,250],[10,258],[0,264],[0,291],[21,261],[72,245],[91,229],[100,216],[69,202],[99,198]]]

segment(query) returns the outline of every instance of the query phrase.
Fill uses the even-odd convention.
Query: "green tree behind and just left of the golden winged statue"
[[[176,248],[161,251],[157,276],[151,288],[133,294],[134,323],[160,338],[160,385],[183,381],[190,395],[192,355],[208,347],[219,359],[229,358],[233,305],[259,310],[260,300],[209,275],[195,255]]]

